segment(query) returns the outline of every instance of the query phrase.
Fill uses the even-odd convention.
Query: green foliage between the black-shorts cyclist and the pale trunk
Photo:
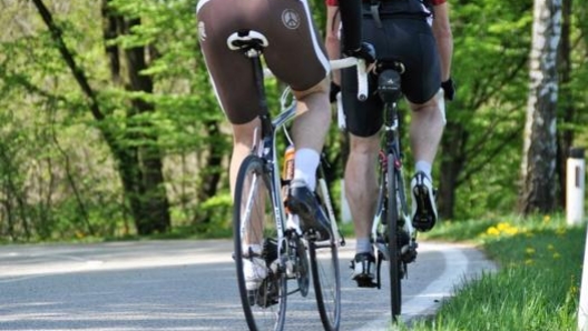
[[[458,94],[447,103],[444,139],[451,138],[451,142],[445,142],[449,146],[440,151],[439,160],[464,160],[454,188],[459,197],[455,218],[513,208],[527,102],[531,7],[532,1],[452,7],[452,76]],[[452,151],[455,143],[461,146],[459,153]]]

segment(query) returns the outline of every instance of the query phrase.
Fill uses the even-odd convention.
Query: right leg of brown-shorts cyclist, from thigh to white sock
[[[313,191],[318,156],[331,123],[329,58],[306,0],[271,3],[272,10],[280,14],[268,23],[272,29],[266,33],[271,42],[265,59],[297,100],[300,116],[292,130],[296,146],[294,179],[304,180]],[[293,18],[296,20],[288,20]]]

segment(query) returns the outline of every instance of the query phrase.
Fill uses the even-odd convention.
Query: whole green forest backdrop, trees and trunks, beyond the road
[[[310,2],[323,29],[324,3]],[[568,151],[588,146],[588,9],[552,2],[559,16],[533,17],[532,0],[451,1],[458,93],[434,169],[442,219],[565,207]],[[188,0],[2,0],[0,242],[231,231],[232,140],[195,8]],[[547,103],[529,102],[540,41],[533,22],[558,41],[557,98]],[[274,108],[281,89],[268,82]],[[335,197],[345,150],[333,126],[325,151]]]

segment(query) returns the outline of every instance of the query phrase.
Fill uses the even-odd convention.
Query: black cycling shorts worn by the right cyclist
[[[385,3],[381,2],[385,12]],[[369,8],[369,7],[367,7]],[[381,16],[382,28],[375,26],[371,13],[364,13],[363,39],[375,47],[379,60],[394,59],[405,67],[402,92],[413,103],[424,103],[435,96],[441,86],[441,67],[433,32],[424,17]],[[370,76],[366,101],[357,100],[356,69],[342,71],[342,98],[349,132],[370,137],[379,132],[383,122],[383,104],[376,91],[378,80]]]

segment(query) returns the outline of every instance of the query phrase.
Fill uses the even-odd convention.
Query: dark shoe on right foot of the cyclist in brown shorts
[[[321,240],[331,238],[329,218],[318,204],[317,197],[308,189],[304,180],[297,179],[291,182],[287,208],[300,217],[302,232],[317,233]]]

